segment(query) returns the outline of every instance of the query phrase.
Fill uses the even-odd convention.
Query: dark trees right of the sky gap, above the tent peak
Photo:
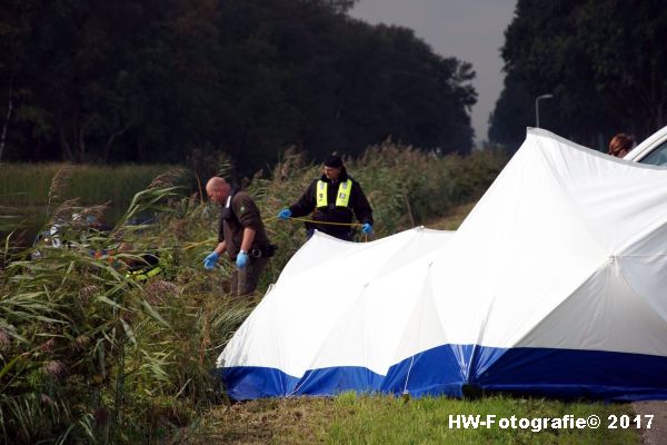
[[[606,149],[611,135],[638,140],[667,125],[667,9],[659,0],[518,0],[505,32],[505,88],[489,139],[517,147],[540,126]]]

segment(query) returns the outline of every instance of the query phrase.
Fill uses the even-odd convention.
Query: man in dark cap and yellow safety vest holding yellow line
[[[352,212],[361,222],[364,234],[372,233],[372,210],[359,182],[354,180],[340,157],[331,155],[325,161],[322,176],[310,184],[297,204],[278,212],[280,219],[302,217],[312,212],[313,221],[306,222],[307,236],[315,229],[347,241],[352,239]],[[334,224],[325,224],[334,222]]]

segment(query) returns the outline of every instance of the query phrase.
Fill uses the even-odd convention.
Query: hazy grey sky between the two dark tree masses
[[[472,128],[481,141],[488,138],[489,113],[502,89],[499,49],[515,4],[516,0],[360,0],[350,16],[411,28],[437,53],[472,63],[478,95]]]

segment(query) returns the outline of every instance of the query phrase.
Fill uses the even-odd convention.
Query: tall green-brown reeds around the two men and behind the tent
[[[439,158],[387,142],[348,159],[347,166],[375,208],[381,237],[476,198],[505,161],[490,151]],[[69,177],[79,167],[66,170],[72,168]],[[16,251],[8,238],[0,263],[0,431],[6,442],[171,437],[178,443],[197,429],[207,409],[225,400],[211,373],[215,359],[302,244],[300,224],[273,216],[298,199],[319,167],[289,155],[270,176],[258,174],[249,185],[279,245],[261,291],[250,299],[227,294],[229,261],[215,273],[201,266],[216,244],[219,209],[173,187],[190,175],[159,176],[133,197],[110,231],[96,231],[78,221],[104,207],[72,200],[62,171],[49,187],[49,218],[68,221],[61,238],[69,247]],[[138,215],[151,215],[153,224],[127,224]],[[140,264],[146,253],[158,254],[162,273],[148,281],[129,279],[128,267]]]

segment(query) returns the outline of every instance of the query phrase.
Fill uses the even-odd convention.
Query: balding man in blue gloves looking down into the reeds
[[[206,257],[203,266],[215,268],[220,255],[227,251],[237,266],[231,273],[231,295],[250,294],[276,247],[269,243],[259,209],[248,194],[233,190],[219,177],[209,179],[206,192],[223,208],[218,246]]]

